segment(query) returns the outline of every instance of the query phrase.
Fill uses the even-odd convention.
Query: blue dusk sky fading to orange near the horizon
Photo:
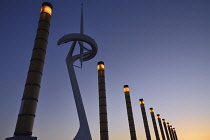
[[[0,139],[12,137],[43,0],[0,2]],[[65,58],[79,33],[80,0],[53,5],[33,136],[72,140],[79,120]],[[97,62],[104,61],[110,140],[129,140],[123,86],[129,85],[138,140],[146,140],[139,105],[176,128],[179,140],[210,140],[210,1],[85,0],[84,33],[98,44],[95,58],[75,68],[93,140],[99,140]],[[160,131],[159,131],[160,133]]]

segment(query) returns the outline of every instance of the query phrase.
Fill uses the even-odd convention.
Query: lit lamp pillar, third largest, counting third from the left
[[[127,107],[128,123],[129,123],[131,140],[137,140],[135,125],[134,125],[134,120],[133,120],[131,99],[130,99],[130,89],[128,85],[124,85],[124,93],[125,93],[125,101],[126,101],[126,107]]]

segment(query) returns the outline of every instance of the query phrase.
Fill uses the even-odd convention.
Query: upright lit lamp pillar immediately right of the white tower
[[[100,139],[108,140],[108,120],[107,120],[107,105],[106,105],[106,87],[104,62],[98,62],[98,89],[99,89],[99,113],[100,113]]]

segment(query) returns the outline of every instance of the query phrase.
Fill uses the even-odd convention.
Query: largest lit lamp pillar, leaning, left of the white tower
[[[16,138],[7,138],[7,140],[36,139],[36,137],[30,136],[32,135],[36,107],[39,97],[39,89],[47,49],[52,9],[52,5],[49,2],[44,2],[42,4],[38,29],[36,32],[36,38],[28,70],[28,76],[26,79],[21,107],[14,132],[14,136]]]

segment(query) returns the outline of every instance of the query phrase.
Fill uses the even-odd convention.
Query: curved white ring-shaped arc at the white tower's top
[[[95,40],[91,38],[90,36],[85,35],[85,34],[80,34],[80,33],[67,34],[61,37],[58,40],[57,44],[61,45],[70,41],[81,41],[91,46],[92,50],[90,50],[89,53],[83,57],[83,61],[88,61],[96,56],[97,51],[98,51],[98,45],[96,44]]]

